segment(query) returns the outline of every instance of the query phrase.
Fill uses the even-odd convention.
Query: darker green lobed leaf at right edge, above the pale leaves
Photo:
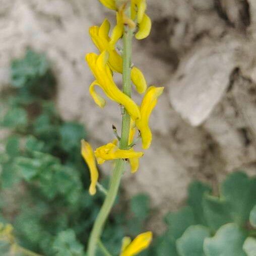
[[[244,172],[234,172],[222,183],[220,194],[229,202],[233,222],[242,226],[256,204],[256,177],[249,178]]]

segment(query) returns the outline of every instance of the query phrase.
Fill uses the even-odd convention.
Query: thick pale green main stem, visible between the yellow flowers
[[[125,26],[123,35],[123,93],[131,97],[131,57],[132,57],[132,39],[133,39],[133,30]],[[131,118],[129,114],[124,110],[122,115],[122,131],[119,148],[128,149],[129,142],[129,132],[130,132],[130,122]],[[95,256],[97,243],[100,240],[100,236],[103,231],[104,224],[106,219],[113,207],[115,198],[118,193],[118,188],[121,181],[121,176],[124,170],[125,162],[123,159],[117,159],[115,161],[115,167],[113,170],[112,177],[110,179],[110,186],[108,189],[107,196],[105,201],[100,209],[100,212],[94,222],[92,232],[90,234],[89,243],[88,243],[88,256]]]

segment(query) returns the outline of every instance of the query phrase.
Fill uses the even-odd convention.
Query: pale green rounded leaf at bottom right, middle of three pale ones
[[[246,233],[235,223],[222,226],[214,237],[204,241],[206,256],[246,256],[242,246]]]

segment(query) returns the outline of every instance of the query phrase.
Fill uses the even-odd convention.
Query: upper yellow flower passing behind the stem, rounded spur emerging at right
[[[116,41],[122,36],[123,24],[120,23],[119,13],[116,13],[117,25],[109,37],[110,24],[107,19],[103,21],[100,27],[93,26],[89,29],[90,36],[93,43],[100,52],[108,51],[109,59],[108,65],[113,72],[122,73],[122,57],[117,53],[114,48]],[[131,71],[131,79],[139,93],[144,93],[147,89],[147,83],[142,72],[133,67]]]

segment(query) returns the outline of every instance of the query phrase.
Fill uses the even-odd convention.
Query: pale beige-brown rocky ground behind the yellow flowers
[[[138,173],[127,173],[127,195],[149,193],[160,214],[182,205],[194,179],[215,187],[236,169],[256,170],[255,0],[149,0],[152,34],[134,46],[133,61],[149,84],[165,87],[151,126],[154,140]],[[120,127],[120,111],[99,109],[89,96],[84,61],[95,51],[88,28],[105,16],[96,0],[1,0],[0,85],[27,46],[46,51],[58,80],[63,118],[85,123],[96,147]],[[109,172],[108,165],[104,169]]]

